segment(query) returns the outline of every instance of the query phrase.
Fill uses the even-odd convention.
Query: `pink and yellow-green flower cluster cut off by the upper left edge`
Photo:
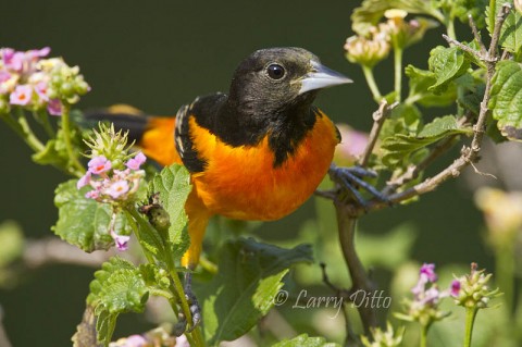
[[[78,67],[67,66],[59,58],[42,59],[50,51],[49,47],[25,52],[0,49],[0,111],[20,106],[61,115],[62,100],[74,103],[90,89]]]

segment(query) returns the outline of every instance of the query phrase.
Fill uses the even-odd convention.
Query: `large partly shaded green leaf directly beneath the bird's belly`
[[[237,239],[225,244],[220,272],[206,285],[204,330],[211,345],[246,334],[274,306],[281,282],[293,264],[311,262],[310,246],[283,249]]]

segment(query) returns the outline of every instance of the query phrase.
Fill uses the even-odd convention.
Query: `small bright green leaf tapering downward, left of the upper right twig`
[[[463,75],[470,69],[470,60],[457,47],[445,48],[438,46],[430,52],[430,71],[435,73],[436,83],[427,90],[440,94],[448,88],[448,84]]]

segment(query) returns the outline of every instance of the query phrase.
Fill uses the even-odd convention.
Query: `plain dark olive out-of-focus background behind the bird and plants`
[[[227,90],[237,63],[259,48],[299,46],[343,72],[353,85],[322,92],[316,104],[336,122],[369,132],[375,109],[356,65],[343,52],[350,13],[358,1],[3,1],[0,46],[20,50],[52,48],[79,65],[92,90],[79,108],[125,102],[154,114],[174,114],[196,96]],[[405,63],[426,67],[428,50],[444,45],[440,30],[410,48]],[[383,91],[391,87],[390,61],[377,66]],[[66,177],[30,161],[29,150],[0,123],[0,222],[17,221],[28,237],[51,235],[53,189]],[[440,163],[440,165],[444,164]],[[361,219],[366,234],[378,235],[411,222],[419,231],[413,257],[444,265],[477,261],[490,267],[480,240],[482,218],[462,179],[445,184],[419,203],[389,208]],[[260,228],[264,240],[296,235],[313,215],[308,202],[293,215]],[[13,346],[67,346],[79,322],[91,269],[49,267],[0,289],[4,324]],[[133,332],[144,319],[130,317]],[[142,331],[138,327],[138,331]],[[134,330],[135,331],[135,330]]]

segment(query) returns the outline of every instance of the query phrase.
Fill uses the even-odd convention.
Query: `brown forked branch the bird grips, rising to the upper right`
[[[470,146],[464,146],[461,150],[461,154],[450,165],[444,169],[442,172],[436,174],[434,177],[430,177],[424,179],[422,183],[414,185],[413,187],[406,189],[403,191],[395,193],[388,196],[388,201],[373,199],[365,206],[353,206],[349,201],[341,199],[343,189],[336,190],[336,198],[334,199],[334,206],[337,214],[337,224],[338,224],[338,233],[339,233],[339,243],[343,250],[343,256],[345,258],[346,264],[349,270],[349,274],[352,281],[352,288],[351,292],[355,290],[365,290],[372,292],[375,286],[371,281],[370,276],[366,274],[355,248],[355,233],[356,233],[356,223],[357,219],[370,211],[382,209],[384,207],[388,207],[390,202],[401,202],[412,197],[428,193],[434,190],[445,181],[457,177],[460,175],[462,170],[473,163],[478,158],[478,152],[481,151],[481,144],[484,137],[484,127],[485,122],[488,114],[487,104],[490,98],[490,90],[492,90],[492,79],[495,74],[495,67],[499,57],[497,54],[497,47],[498,37],[500,35],[500,28],[506,20],[507,14],[509,13],[510,7],[504,5],[502,11],[497,16],[495,29],[492,37],[492,42],[489,49],[486,52],[478,52],[474,49],[471,49],[468,46],[462,45],[461,42],[444,35],[445,39],[448,40],[449,44],[452,44],[460,49],[473,54],[478,60],[482,60],[486,64],[487,74],[486,74],[486,87],[484,91],[484,97],[481,102],[481,109],[477,116],[476,124],[473,127],[473,138],[471,140]],[[476,33],[477,34],[477,33]],[[482,42],[482,41],[481,41]],[[480,45],[484,45],[483,42]],[[382,106],[384,108],[384,106]],[[381,108],[380,108],[381,110]],[[378,111],[377,111],[378,112]],[[378,115],[378,114],[377,114]],[[377,121],[375,121],[377,122]],[[378,135],[380,126],[374,123],[375,133]],[[372,128],[373,133],[373,128]],[[366,164],[369,153],[373,150],[374,139],[376,135],[371,135],[371,141],[369,144],[369,148],[366,148],[364,156],[362,157],[361,163]],[[437,157],[439,157],[443,152],[449,149],[452,146],[452,140],[455,137],[448,137],[448,139],[440,142],[432,153],[418,166],[412,166],[410,172],[406,173],[401,181],[396,182],[391,188],[388,188],[390,191],[395,191],[398,188],[397,184],[403,184],[407,181],[413,179],[419,172],[425,169],[428,164],[433,162]],[[325,196],[325,195],[323,195]],[[377,324],[376,320],[376,312],[371,307],[360,306],[358,307],[359,314],[361,317],[362,324],[364,326],[365,333],[369,333],[371,326],[375,326]]]

